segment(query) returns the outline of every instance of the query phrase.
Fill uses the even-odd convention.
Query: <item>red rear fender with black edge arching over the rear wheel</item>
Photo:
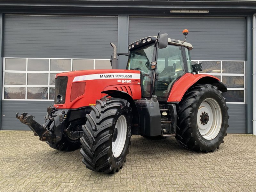
[[[168,102],[180,102],[185,92],[197,84],[212,84],[219,88],[221,92],[227,92],[227,87],[220,80],[212,75],[186,73],[178,79],[172,86]]]

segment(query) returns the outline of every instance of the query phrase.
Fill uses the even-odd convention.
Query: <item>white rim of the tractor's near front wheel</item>
[[[124,115],[121,115],[117,119],[115,129],[117,130],[117,137],[116,140],[112,142],[112,153],[113,156],[117,158],[121,155],[126,141],[127,122]]]

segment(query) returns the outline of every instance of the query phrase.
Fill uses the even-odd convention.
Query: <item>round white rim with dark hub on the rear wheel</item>
[[[222,123],[219,103],[213,98],[205,99],[198,108],[196,119],[198,130],[204,139],[212,140],[217,137]]]

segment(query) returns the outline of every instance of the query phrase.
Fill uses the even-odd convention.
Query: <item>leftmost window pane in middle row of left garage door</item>
[[[4,84],[25,85],[26,73],[4,73]]]

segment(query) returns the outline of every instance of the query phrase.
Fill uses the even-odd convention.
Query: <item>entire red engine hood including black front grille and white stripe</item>
[[[141,98],[140,71],[124,69],[100,69],[59,73],[55,76],[55,100],[57,109],[75,109],[95,105],[104,97],[102,91],[127,92],[134,100]]]

